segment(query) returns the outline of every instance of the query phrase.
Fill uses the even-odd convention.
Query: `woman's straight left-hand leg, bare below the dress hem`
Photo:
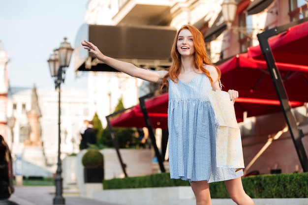
[[[207,181],[192,181],[190,186],[196,197],[196,205],[212,205],[210,185]]]

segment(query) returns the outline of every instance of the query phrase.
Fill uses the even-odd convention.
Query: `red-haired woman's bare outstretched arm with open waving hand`
[[[84,42],[81,43],[81,45],[83,45],[84,49],[87,49],[98,60],[130,76],[137,77],[137,78],[150,81],[153,83],[161,84],[163,77],[167,74],[167,71],[164,71],[164,70],[153,72],[147,69],[139,68],[132,63],[124,62],[121,60],[117,60],[117,59],[113,59],[108,56],[105,56],[99,51],[99,49],[94,44],[92,44],[89,41],[85,40]]]

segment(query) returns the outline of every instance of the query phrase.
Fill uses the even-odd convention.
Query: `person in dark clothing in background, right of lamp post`
[[[96,144],[96,131],[93,129],[92,121],[85,120],[85,127],[80,131],[81,142],[80,149],[86,149],[89,147],[89,144]]]

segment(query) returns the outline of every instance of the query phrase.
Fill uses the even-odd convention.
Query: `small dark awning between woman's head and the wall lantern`
[[[204,42],[215,40],[225,29],[227,29],[227,24],[223,19],[222,12],[220,12],[213,26],[205,33]]]

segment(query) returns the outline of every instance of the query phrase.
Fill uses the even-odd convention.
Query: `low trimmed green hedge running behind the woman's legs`
[[[308,173],[258,175],[243,177],[243,186],[251,198],[308,198]],[[169,173],[104,180],[104,189],[189,186]],[[213,199],[230,198],[223,181],[210,184]]]

